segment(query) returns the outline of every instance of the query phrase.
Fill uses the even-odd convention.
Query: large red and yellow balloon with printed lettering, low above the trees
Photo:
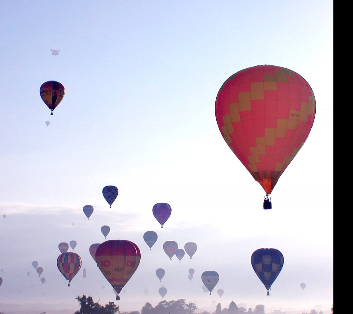
[[[136,271],[141,259],[137,245],[127,240],[109,240],[96,250],[97,265],[118,295]]]

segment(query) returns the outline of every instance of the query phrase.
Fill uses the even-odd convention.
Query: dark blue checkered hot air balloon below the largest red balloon
[[[270,288],[283,267],[284,257],[277,249],[258,249],[251,255],[251,265],[257,277],[267,289]]]

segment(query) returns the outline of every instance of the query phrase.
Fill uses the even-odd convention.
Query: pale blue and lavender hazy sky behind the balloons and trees
[[[0,4],[0,310],[5,303],[77,310],[82,294],[115,301],[89,254],[105,241],[103,225],[107,240],[130,240],[141,251],[116,301],[121,311],[156,306],[162,285],[167,301],[212,311],[232,300],[266,312],[331,307],[332,1]],[[310,135],[269,211],[264,190],[223,140],[214,108],[229,76],[261,64],[299,73],[316,98]],[[65,87],[53,115],[39,94],[49,80]],[[112,208],[106,185],[119,189]],[[172,207],[163,229],[152,215],[160,202]],[[85,205],[94,207],[89,220]],[[143,241],[148,230],[158,234],[152,250]],[[82,267],[68,287],[56,259],[58,244],[71,240]],[[165,241],[198,249],[192,259],[169,261]],[[258,248],[279,249],[285,259],[270,296],[250,263]],[[32,261],[43,267],[44,284]],[[166,271],[162,282],[157,268]],[[222,298],[203,292],[207,270],[219,273]]]

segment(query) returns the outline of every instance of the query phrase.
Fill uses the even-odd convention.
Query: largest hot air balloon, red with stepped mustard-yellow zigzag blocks
[[[218,92],[216,120],[229,148],[266,192],[303,146],[315,118],[315,97],[298,73],[258,65],[227,79]]]

